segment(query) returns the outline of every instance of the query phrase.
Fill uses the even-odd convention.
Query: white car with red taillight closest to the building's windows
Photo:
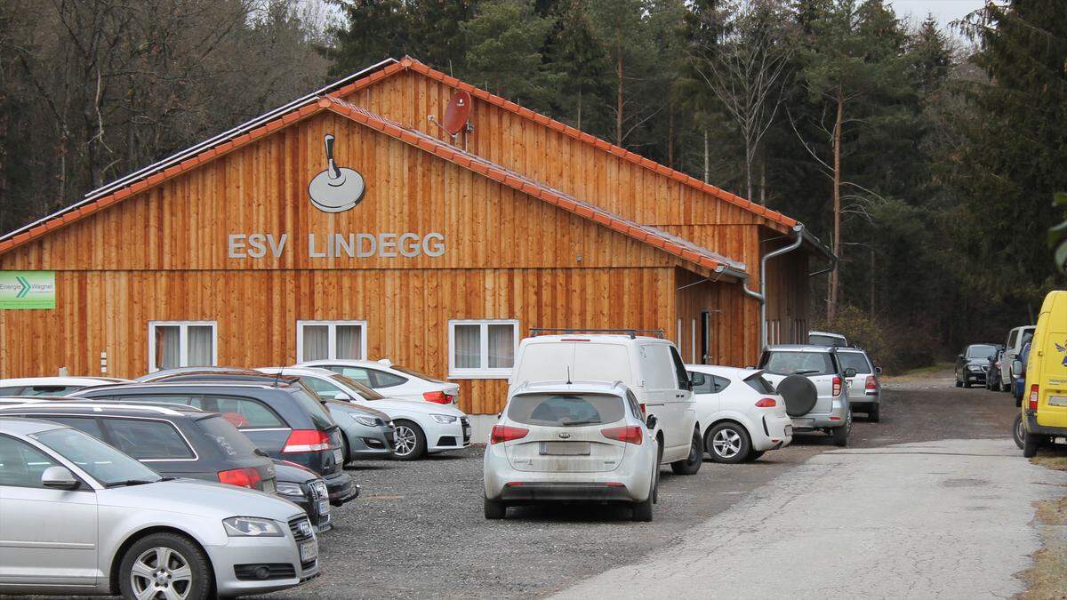
[[[393,364],[388,359],[380,361],[319,360],[298,363],[293,366],[329,368],[391,398],[424,400],[437,405],[459,402],[460,386],[458,383],[434,379],[417,370]]]

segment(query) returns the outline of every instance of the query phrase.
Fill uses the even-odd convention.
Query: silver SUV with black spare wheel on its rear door
[[[794,431],[824,431],[839,446],[848,445],[853,413],[847,380],[856,369],[843,368],[832,346],[767,346],[760,357],[763,377],[785,400]]]

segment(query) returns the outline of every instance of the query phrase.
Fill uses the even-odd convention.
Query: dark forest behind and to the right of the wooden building
[[[1063,285],[1062,0],[5,0],[0,232],[404,54],[799,219],[813,321],[890,368]]]

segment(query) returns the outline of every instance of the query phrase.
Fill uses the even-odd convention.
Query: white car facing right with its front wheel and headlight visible
[[[367,385],[325,368],[265,367],[270,375],[282,373],[322,397],[350,401],[389,415],[396,427],[393,454],[400,460],[415,460],[427,454],[465,448],[471,445],[471,421],[455,406],[425,400],[386,397]]]

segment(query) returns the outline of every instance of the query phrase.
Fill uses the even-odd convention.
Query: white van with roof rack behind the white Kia
[[[700,470],[704,443],[697,423],[692,384],[685,364],[668,340],[623,333],[538,335],[519,344],[508,396],[536,381],[621,381],[647,414],[656,415],[653,435],[663,448],[659,462],[675,473]]]

